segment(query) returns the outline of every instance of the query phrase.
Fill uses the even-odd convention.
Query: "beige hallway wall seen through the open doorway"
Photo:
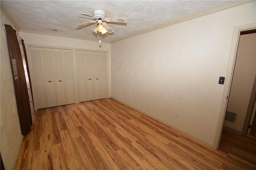
[[[227,111],[236,113],[236,120],[225,121],[224,126],[242,132],[255,74],[256,33],[241,35],[227,107]]]

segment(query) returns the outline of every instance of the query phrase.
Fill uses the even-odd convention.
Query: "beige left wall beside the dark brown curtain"
[[[5,169],[10,170],[16,162],[23,136],[20,131],[18,111],[14,94],[12,71],[4,24],[12,25],[1,10],[1,57],[0,57],[0,103],[1,103],[1,155]],[[16,29],[13,25],[12,27]],[[17,29],[16,29],[17,30]]]

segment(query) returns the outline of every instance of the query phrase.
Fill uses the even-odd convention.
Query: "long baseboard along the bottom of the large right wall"
[[[126,105],[126,106],[128,106],[128,107],[131,107],[131,108],[133,108],[133,109],[139,111],[140,113],[142,113],[142,114],[144,114],[144,115],[147,115],[148,117],[151,117],[152,119],[155,119],[156,121],[159,121],[160,123],[163,123],[164,125],[167,125],[167,126],[171,127],[172,129],[174,129],[174,130],[176,130],[176,131],[178,131],[178,132],[180,132],[180,133],[183,133],[184,135],[187,135],[187,136],[189,136],[189,137],[195,139],[196,141],[199,141],[200,143],[203,143],[204,145],[207,145],[208,147],[211,147],[211,148],[213,147],[213,144],[212,144],[212,143],[208,143],[208,142],[206,142],[206,141],[204,141],[204,140],[202,140],[202,139],[200,139],[200,138],[198,138],[198,137],[196,137],[196,136],[194,136],[194,135],[191,135],[191,134],[189,134],[189,133],[186,133],[185,131],[182,131],[181,129],[179,129],[179,128],[177,128],[177,127],[174,127],[174,126],[170,125],[169,123],[166,123],[166,122],[164,122],[164,121],[162,121],[162,120],[160,120],[160,119],[158,119],[158,118],[156,118],[156,117],[153,117],[153,116],[151,116],[151,115],[148,115],[148,114],[145,113],[144,111],[141,111],[140,109],[137,109],[137,108],[135,108],[135,107],[133,107],[133,106],[130,106],[129,104],[126,104],[126,103],[124,103],[124,102],[122,102],[122,101],[120,101],[120,100],[118,100],[118,99],[116,99],[116,98],[113,98],[113,97],[111,97],[111,98],[114,99],[114,100],[116,100],[116,101],[118,101],[118,102],[120,102],[120,103],[122,103],[122,104],[124,104],[124,105]]]

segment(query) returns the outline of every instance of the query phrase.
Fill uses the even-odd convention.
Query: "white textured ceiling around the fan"
[[[8,14],[22,30],[55,33],[82,39],[113,42],[137,35],[195,14],[233,3],[232,0],[1,0]],[[92,21],[78,13],[93,15],[93,10],[106,12],[106,18],[126,18],[126,25],[109,24],[114,33],[96,35],[89,25],[76,29],[75,25]],[[57,28],[57,32],[50,29]]]

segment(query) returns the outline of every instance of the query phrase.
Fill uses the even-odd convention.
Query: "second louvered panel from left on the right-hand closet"
[[[94,100],[94,64],[92,52],[86,53],[86,94],[87,101]]]

